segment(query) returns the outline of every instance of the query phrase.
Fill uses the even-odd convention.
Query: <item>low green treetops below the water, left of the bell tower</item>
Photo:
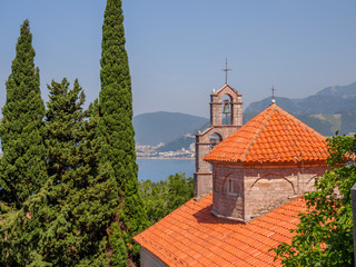
[[[149,225],[154,225],[194,197],[194,180],[185,174],[170,175],[159,182],[145,180],[140,195]]]

